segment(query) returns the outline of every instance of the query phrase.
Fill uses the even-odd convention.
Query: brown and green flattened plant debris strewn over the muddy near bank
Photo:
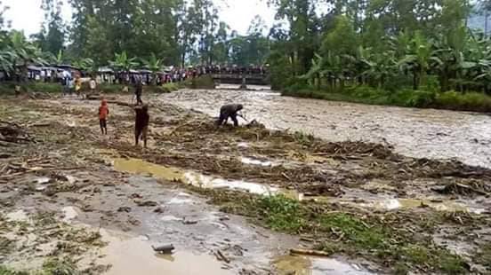
[[[0,126],[8,126],[2,135],[9,138],[4,144],[6,153],[0,157],[3,172],[0,184],[9,186],[7,189],[12,192],[9,184],[15,183],[19,193],[3,197],[0,204],[12,208],[23,196],[32,193],[40,193],[47,200],[59,193],[78,193],[94,183],[73,182],[65,171],[108,169],[108,158],[136,158],[205,175],[274,185],[314,198],[299,201],[284,195],[262,197],[183,186],[209,197],[211,203],[227,213],[246,216],[254,224],[274,231],[300,235],[309,240],[307,246],[329,255],[363,257],[378,263],[382,271],[401,274],[406,271],[466,273],[474,264],[489,269],[487,239],[478,238],[487,237],[489,232],[476,232],[491,225],[487,209],[478,215],[453,209],[435,211],[423,202],[415,208],[392,211],[357,205],[366,202],[368,195],[484,200],[491,191],[488,169],[459,161],[409,158],[393,153],[389,145],[326,142],[302,133],[268,130],[258,122],[237,129],[217,129],[205,115],[158,104],[150,106],[151,147],[141,150],[132,144],[133,111],[128,107],[130,104],[124,104],[124,99],[115,98],[111,106],[111,119],[117,126],[109,124],[111,136],[107,139],[98,137],[98,125],[92,124],[97,103],[67,101],[56,105],[53,101],[4,101],[0,120],[9,118],[9,124]],[[61,115],[63,120],[59,119]],[[88,148],[110,150],[112,154],[85,153],[90,151]],[[241,156],[271,161],[274,165],[246,164]],[[26,175],[49,177],[51,181],[38,192],[36,185],[22,181]],[[367,193],[366,186],[374,181],[387,186]],[[355,193],[357,200],[349,204],[334,200],[344,198],[346,193]],[[324,200],[316,200],[319,198]],[[55,266],[68,270],[76,263],[65,261],[63,254],[80,255],[87,251],[84,249],[103,245],[97,233],[68,230],[49,215],[34,220],[35,224],[16,224],[15,230],[28,233],[33,228],[45,229],[58,240],[61,254],[54,260],[46,258],[52,262],[44,268]],[[0,223],[0,232],[10,231],[12,226]],[[463,235],[462,241],[476,242],[475,253],[470,257],[461,255],[434,241],[433,237],[447,227],[451,231],[444,238]],[[77,242],[89,246],[80,250],[75,246]],[[9,255],[15,242],[0,237],[0,245],[0,254]],[[4,270],[0,267],[0,274],[2,271],[10,274]]]

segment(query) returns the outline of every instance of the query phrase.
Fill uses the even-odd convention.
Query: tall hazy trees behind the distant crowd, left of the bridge
[[[61,19],[62,2],[43,0],[44,24],[33,35],[43,50],[64,59],[92,59],[104,66],[125,52],[163,65],[262,64],[269,54],[264,22],[257,17],[246,35],[220,20],[212,0],[69,0],[73,19]]]

